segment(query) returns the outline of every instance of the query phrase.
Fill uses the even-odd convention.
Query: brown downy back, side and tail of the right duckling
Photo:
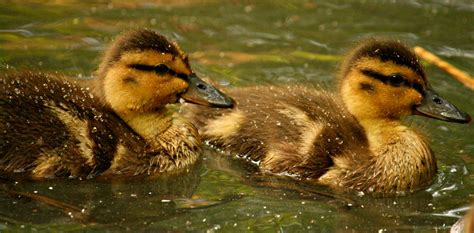
[[[334,157],[368,160],[364,129],[330,92],[304,86],[228,90],[233,110],[185,105],[183,114],[213,146],[271,172],[317,179]]]

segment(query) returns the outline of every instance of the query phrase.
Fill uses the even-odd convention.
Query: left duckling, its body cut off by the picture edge
[[[0,84],[0,172],[38,179],[182,170],[197,161],[201,139],[168,104],[233,105],[149,29],[119,36],[93,79],[7,71]]]

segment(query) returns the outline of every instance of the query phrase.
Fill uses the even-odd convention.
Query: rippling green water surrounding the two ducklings
[[[423,46],[474,74],[471,0],[112,2],[0,1],[0,68],[87,77],[114,36],[140,26],[178,41],[198,74],[231,86],[331,86],[340,54],[369,36]],[[433,66],[427,73],[474,115],[473,91]],[[7,182],[36,198],[1,192],[0,231],[446,232],[473,198],[474,128],[408,121],[429,135],[439,175],[407,197],[324,197],[322,187],[258,177],[208,151],[182,177]]]

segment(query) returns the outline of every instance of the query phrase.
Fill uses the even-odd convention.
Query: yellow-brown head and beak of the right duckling
[[[339,78],[342,99],[359,120],[414,114],[458,123],[471,120],[433,91],[419,59],[398,41],[362,42],[348,54]]]

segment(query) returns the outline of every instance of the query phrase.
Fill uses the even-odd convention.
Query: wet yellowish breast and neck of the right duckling
[[[399,120],[362,120],[373,158],[349,176],[356,190],[380,193],[413,191],[429,183],[436,160],[423,137]]]

